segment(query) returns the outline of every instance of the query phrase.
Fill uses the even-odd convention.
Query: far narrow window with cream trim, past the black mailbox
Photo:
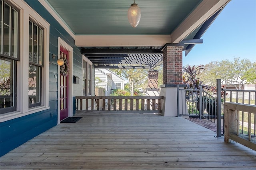
[[[92,95],[92,62],[83,56],[83,96]]]

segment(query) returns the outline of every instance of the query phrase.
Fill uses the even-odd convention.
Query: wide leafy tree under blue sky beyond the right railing
[[[248,59],[240,60],[240,58],[234,58],[233,61],[210,62],[205,65],[205,71],[201,73],[201,78],[206,84],[212,86],[216,84],[216,79],[220,78],[223,84],[241,89],[246,83],[256,82],[255,66],[256,62],[251,63]]]

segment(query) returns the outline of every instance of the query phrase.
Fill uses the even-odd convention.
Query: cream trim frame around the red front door
[[[68,50],[68,117],[73,116],[73,48],[58,37],[58,52],[60,52],[60,46]],[[58,54],[58,58],[60,55]],[[58,82],[60,82],[60,66],[58,65]],[[58,83],[58,122],[60,124],[60,83]]]

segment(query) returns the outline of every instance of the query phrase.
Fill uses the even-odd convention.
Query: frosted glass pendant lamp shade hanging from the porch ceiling
[[[140,8],[137,4],[131,4],[131,7],[128,9],[128,21],[132,27],[136,27],[140,22]]]

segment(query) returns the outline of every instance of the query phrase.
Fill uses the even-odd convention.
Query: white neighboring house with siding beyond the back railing
[[[95,69],[95,86],[105,88],[105,94],[109,96],[111,89],[124,90],[124,79],[108,69]]]

